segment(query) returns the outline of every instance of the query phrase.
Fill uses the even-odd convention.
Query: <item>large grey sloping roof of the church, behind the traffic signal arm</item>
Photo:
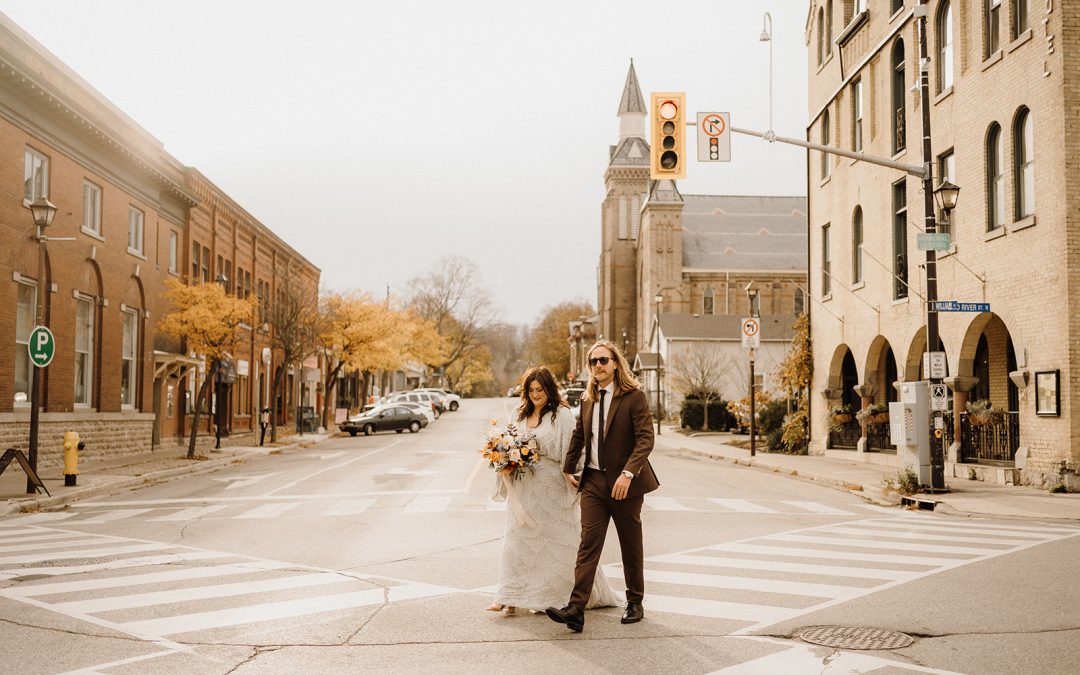
[[[684,194],[683,202],[684,268],[806,272],[805,197]]]

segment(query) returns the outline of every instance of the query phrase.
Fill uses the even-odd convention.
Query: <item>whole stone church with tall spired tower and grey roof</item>
[[[794,321],[805,310],[807,212],[801,197],[684,195],[671,180],[650,180],[646,116],[631,64],[619,140],[604,174],[596,329],[625,345],[631,363],[639,353],[653,354],[639,360],[652,364],[643,367],[653,370],[645,378],[652,392],[658,363],[665,377],[663,359],[654,356],[658,313],[747,316],[748,285],[758,291],[759,314]],[[708,325],[727,333],[702,340],[739,337],[738,324]]]

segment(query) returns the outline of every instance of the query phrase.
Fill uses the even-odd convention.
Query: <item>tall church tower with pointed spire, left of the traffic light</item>
[[[624,347],[631,362],[642,347],[637,336],[637,237],[642,204],[649,190],[645,114],[645,99],[631,60],[619,100],[619,143],[610,146],[604,172],[597,279],[598,337]]]

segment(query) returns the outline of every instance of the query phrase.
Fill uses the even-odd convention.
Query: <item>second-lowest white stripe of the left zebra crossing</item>
[[[168,605],[173,603],[187,603],[189,600],[201,600],[218,597],[231,597],[235,595],[248,595],[253,593],[266,593],[271,591],[283,591],[287,589],[306,589],[332,583],[355,582],[355,579],[339,575],[337,572],[321,572],[316,575],[298,575],[295,577],[279,577],[276,579],[260,579],[258,581],[241,581],[238,583],[220,583],[206,586],[192,586],[175,589],[172,591],[156,591],[152,593],[135,593],[130,595],[114,595],[87,600],[72,600],[70,603],[55,603],[55,609],[67,612],[93,615],[103,611],[113,611],[118,609],[133,609],[136,607],[150,607],[154,605]]]

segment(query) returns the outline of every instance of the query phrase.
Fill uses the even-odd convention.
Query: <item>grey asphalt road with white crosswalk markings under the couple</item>
[[[0,672],[1076,672],[1080,529],[883,509],[672,434],[644,622],[484,611],[505,512],[477,448],[513,403],[0,518]],[[621,589],[613,531],[604,564]],[[915,639],[798,638],[815,625]]]

